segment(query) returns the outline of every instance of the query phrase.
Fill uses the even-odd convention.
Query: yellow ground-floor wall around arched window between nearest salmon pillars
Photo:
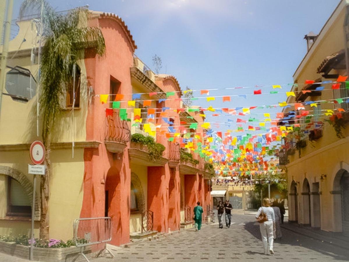
[[[142,184],[145,209],[147,209],[147,192],[148,192],[148,168],[142,165],[131,165],[131,172],[135,173]],[[141,232],[141,214],[131,214],[130,216],[130,233]]]

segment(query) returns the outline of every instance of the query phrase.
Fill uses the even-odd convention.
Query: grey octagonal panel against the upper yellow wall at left
[[[16,66],[6,74],[5,89],[13,100],[28,102],[36,94],[36,81],[28,69]]]

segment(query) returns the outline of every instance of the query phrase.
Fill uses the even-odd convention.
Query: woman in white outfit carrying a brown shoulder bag
[[[258,209],[256,218],[263,212],[267,215],[268,221],[259,224],[259,229],[262,235],[264,254],[268,254],[268,242],[269,252],[274,254],[274,228],[275,228],[275,214],[274,209],[270,207],[270,200],[268,198],[263,199],[263,206]]]

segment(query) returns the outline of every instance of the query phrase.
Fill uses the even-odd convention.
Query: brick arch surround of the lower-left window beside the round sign
[[[0,174],[8,175],[9,177],[12,177],[13,179],[17,180],[18,183],[23,187],[24,192],[27,193],[30,203],[33,201],[33,184],[30,182],[30,180],[27,178],[25,174],[23,174],[21,171],[14,169],[9,166],[0,166]],[[39,206],[39,198],[37,194],[35,195],[35,209],[34,209],[34,220],[40,221],[40,206]]]

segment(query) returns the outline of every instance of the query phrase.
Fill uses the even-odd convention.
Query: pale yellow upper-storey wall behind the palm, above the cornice
[[[21,66],[29,69],[31,74],[37,80],[37,65],[31,65],[30,50],[33,43],[36,43],[36,31],[31,30],[31,22],[23,21],[18,23],[20,31],[13,40],[10,41],[9,56],[17,55],[8,60],[10,67]],[[23,38],[26,39],[22,43]],[[2,46],[0,46],[2,50]],[[19,52],[24,52],[18,57]],[[80,90],[80,108],[74,110],[75,119],[75,141],[86,141],[86,117],[87,117],[87,79],[86,68],[83,61],[78,63],[81,69],[81,90]],[[6,69],[7,72],[10,68]],[[4,88],[4,92],[7,93]],[[0,126],[0,144],[20,144],[30,143],[37,139],[36,137],[36,98],[34,96],[29,102],[18,102],[7,95],[2,96],[1,107],[1,126]],[[64,99],[63,99],[64,100]],[[39,131],[41,133],[41,123]],[[57,123],[54,129],[52,142],[71,142],[72,141],[72,112],[66,110],[63,112],[62,119]]]

